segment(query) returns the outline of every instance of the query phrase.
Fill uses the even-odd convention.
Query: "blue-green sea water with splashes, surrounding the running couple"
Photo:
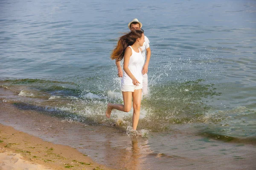
[[[132,110],[105,117],[123,102],[110,54],[134,18],[151,48],[135,137]],[[34,131],[20,129],[77,148],[90,138],[80,151],[115,168],[255,167],[254,0],[2,0],[0,44],[1,123],[15,124],[12,107],[26,111]]]

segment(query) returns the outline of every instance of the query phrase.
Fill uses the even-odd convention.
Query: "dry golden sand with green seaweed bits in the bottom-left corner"
[[[0,124],[0,169],[111,170],[75,148]]]

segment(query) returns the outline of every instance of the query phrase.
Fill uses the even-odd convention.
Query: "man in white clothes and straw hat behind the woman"
[[[132,20],[130,23],[128,23],[128,28],[132,31],[134,29],[140,29],[142,27],[142,23],[139,22],[139,20],[137,18],[134,18],[134,20]],[[143,66],[143,70],[142,70],[142,74],[143,74],[143,88],[142,88],[142,94],[146,95],[148,94],[148,64],[149,64],[149,60],[150,60],[150,56],[151,56],[151,50],[149,47],[149,40],[148,37],[145,36],[145,42],[143,43],[143,46],[140,47],[142,49],[142,55],[143,55],[143,59],[146,62],[144,63]],[[122,67],[120,65],[120,61],[116,60],[116,67],[118,70],[118,77],[122,77],[123,76],[123,72],[122,72]]]

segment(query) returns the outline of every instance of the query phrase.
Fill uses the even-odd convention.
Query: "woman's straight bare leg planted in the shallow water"
[[[135,90],[132,93],[134,113],[132,116],[132,128],[136,130],[140,118],[140,103],[142,89]]]

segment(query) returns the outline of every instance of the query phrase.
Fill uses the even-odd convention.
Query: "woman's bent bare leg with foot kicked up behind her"
[[[122,92],[124,104],[113,104],[108,103],[108,108],[106,110],[106,116],[110,118],[112,109],[117,109],[119,111],[129,112],[131,111],[131,97],[133,92]]]

